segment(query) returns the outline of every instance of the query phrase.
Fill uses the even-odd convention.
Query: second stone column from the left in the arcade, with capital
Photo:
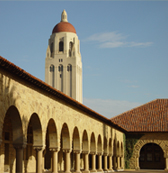
[[[42,146],[34,147],[34,149],[36,150],[36,173],[42,173]]]

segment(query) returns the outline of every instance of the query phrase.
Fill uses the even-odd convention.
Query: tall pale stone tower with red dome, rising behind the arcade
[[[45,82],[82,103],[80,42],[65,10],[48,41]]]

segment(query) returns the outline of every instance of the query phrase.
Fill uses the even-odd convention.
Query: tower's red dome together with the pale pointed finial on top
[[[65,10],[63,10],[61,14],[61,22],[54,27],[52,34],[58,32],[73,32],[76,34],[74,26],[68,22],[67,13]]]

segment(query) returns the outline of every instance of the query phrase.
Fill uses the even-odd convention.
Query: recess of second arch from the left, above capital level
[[[33,113],[30,120],[29,120],[27,133],[29,132],[29,128],[30,129],[32,128],[33,146],[34,147],[43,146],[43,143],[42,143],[42,126],[41,126],[40,119],[36,113]]]

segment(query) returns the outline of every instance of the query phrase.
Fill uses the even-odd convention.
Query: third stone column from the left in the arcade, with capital
[[[50,148],[52,151],[52,173],[58,173],[58,148]]]

